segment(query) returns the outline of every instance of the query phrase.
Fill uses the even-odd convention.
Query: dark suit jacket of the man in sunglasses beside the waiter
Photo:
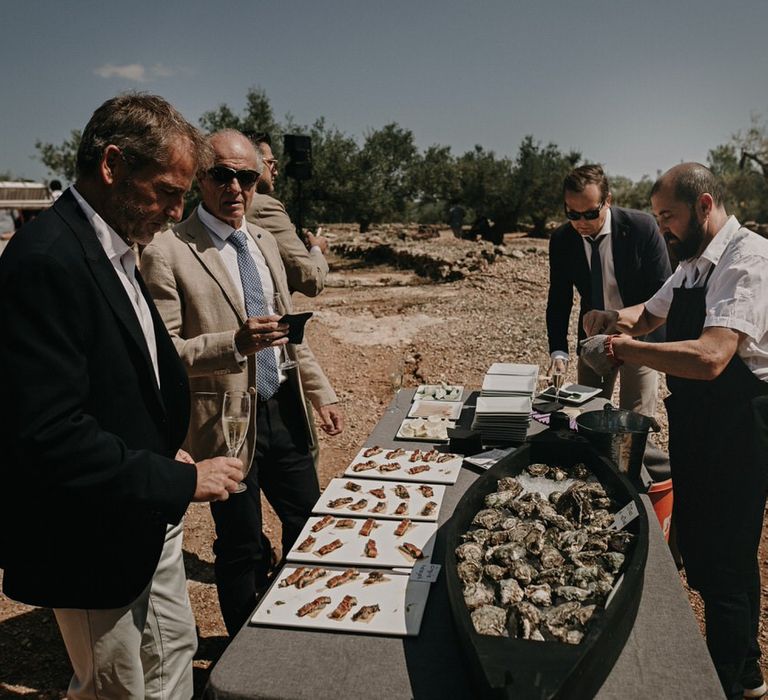
[[[625,307],[648,301],[672,274],[666,243],[649,214],[611,207],[611,245],[616,284]],[[582,319],[591,308],[591,286],[584,241],[567,222],[554,231],[549,240],[547,335],[550,353],[569,352],[568,322],[574,288],[581,296],[578,339],[585,337]]]

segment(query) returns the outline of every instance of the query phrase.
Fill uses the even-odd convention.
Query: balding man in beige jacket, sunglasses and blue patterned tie
[[[262,532],[260,491],[282,521],[285,553],[320,495],[307,402],[329,435],[342,431],[342,416],[309,347],[286,345],[287,325],[275,311],[289,313],[291,295],[278,246],[270,233],[245,220],[261,158],[240,132],[209,139],[214,166],[198,173],[203,203],[155,238],[144,251],[142,274],[189,373],[189,452],[224,449],[224,391],[254,397],[240,454],[247,490],[211,508],[219,603],[234,634],[267,585],[271,548]],[[275,293],[282,306],[274,303]],[[279,368],[282,346],[297,368]]]

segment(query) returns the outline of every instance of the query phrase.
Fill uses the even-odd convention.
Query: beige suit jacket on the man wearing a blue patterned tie
[[[248,224],[272,273],[275,291],[290,312],[291,295],[274,237]],[[185,442],[195,459],[226,453],[221,430],[221,404],[227,390],[250,391],[256,397],[256,363],[238,362],[234,332],[245,322],[245,303],[197,212],[157,236],[142,254],[141,273],[165,322],[190,379],[192,416]],[[301,401],[310,445],[315,432],[307,400],[315,408],[336,403],[337,397],[306,342],[288,345],[299,363],[287,381]],[[255,408],[255,403],[254,403]],[[255,410],[240,458],[250,467],[256,435]]]

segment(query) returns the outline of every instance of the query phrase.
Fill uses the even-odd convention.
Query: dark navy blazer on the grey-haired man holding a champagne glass
[[[196,472],[173,456],[187,378],[149,295],[160,370],[73,195],[0,257],[0,566],[8,597],[114,608],[152,578]]]

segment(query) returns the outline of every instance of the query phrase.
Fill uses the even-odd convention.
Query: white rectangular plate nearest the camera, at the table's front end
[[[328,574],[306,588],[295,586],[279,588],[279,583],[290,576],[298,567],[287,564],[272,587],[266,592],[259,607],[251,618],[257,625],[277,627],[299,627],[302,629],[334,630],[354,634],[393,634],[415,636],[419,633],[424,608],[427,605],[430,584],[410,581],[408,573],[386,571],[387,580],[364,586],[363,581],[370,569],[358,569],[360,576],[337,588],[327,588],[325,582],[344,571],[343,567],[323,567]],[[296,611],[305,603],[319,596],[328,596],[331,602],[320,613],[312,617],[299,617]],[[343,620],[332,620],[330,612],[351,595],[357,599],[355,605]],[[354,622],[352,615],[363,605],[378,605],[379,612],[369,621]]]

